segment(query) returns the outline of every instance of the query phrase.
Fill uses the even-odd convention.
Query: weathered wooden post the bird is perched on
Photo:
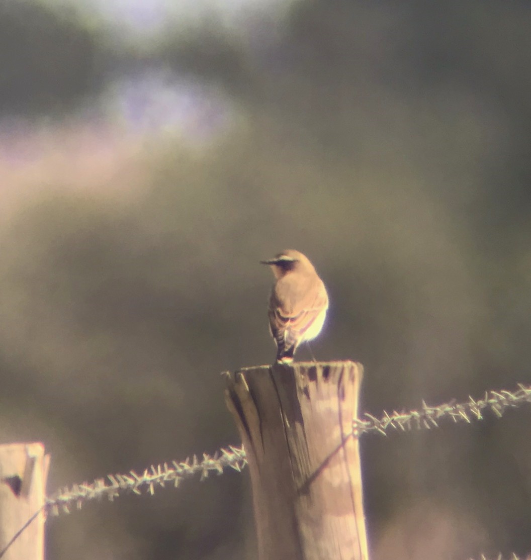
[[[227,372],[253,487],[259,560],[368,560],[357,418],[363,367]]]

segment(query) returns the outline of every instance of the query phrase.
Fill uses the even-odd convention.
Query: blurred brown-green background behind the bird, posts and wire
[[[0,438],[49,492],[239,444],[258,264],[362,410],[531,382],[531,4],[0,2]],[[373,560],[531,551],[531,414],[361,442]],[[54,560],[252,559],[248,473],[50,518]]]

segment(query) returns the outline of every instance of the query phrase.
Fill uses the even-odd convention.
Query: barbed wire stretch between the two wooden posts
[[[215,471],[218,474],[223,469],[230,467],[240,471],[247,464],[243,447],[232,447],[216,451],[212,456],[203,454],[200,460],[196,455],[178,463],[172,461],[171,465],[164,463],[146,469],[142,474],[130,470],[128,474],[108,474],[108,480],[99,478],[94,482],[73,484],[69,488],[59,489],[52,497],[46,498],[46,511],[58,515],[60,511],[69,513],[72,506],[81,509],[83,503],[96,498],[107,497],[109,500],[129,491],[141,494],[147,490],[155,493],[155,487],[164,487],[165,483],[173,483],[179,486],[181,480],[199,474],[201,480],[208,477],[209,473]]]

